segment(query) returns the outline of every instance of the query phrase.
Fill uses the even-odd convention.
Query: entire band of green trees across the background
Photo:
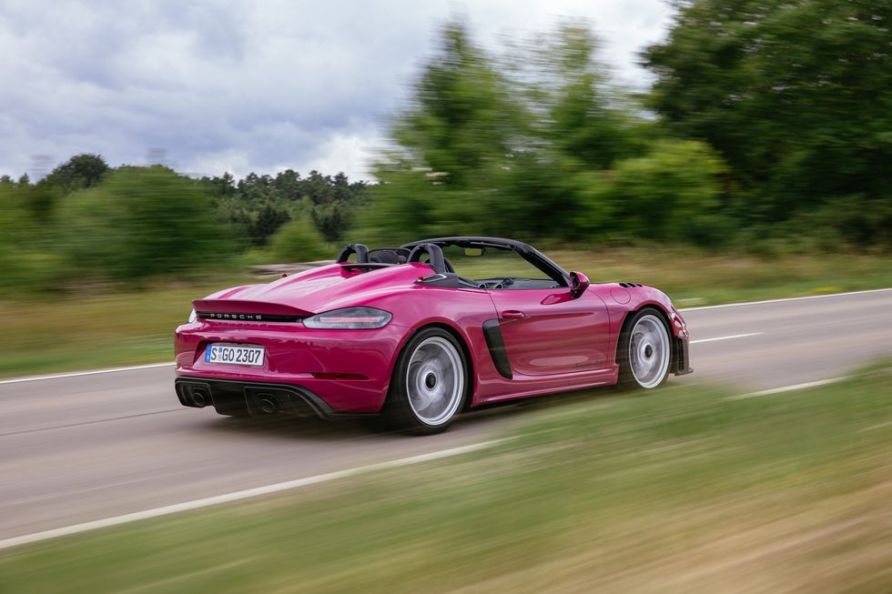
[[[892,3],[691,0],[613,82],[586,24],[500,49],[467,25],[390,118],[376,182],[192,179],[78,155],[0,178],[0,291],[297,261],[334,242],[494,235],[704,249],[892,247]],[[243,255],[243,256],[239,256]]]

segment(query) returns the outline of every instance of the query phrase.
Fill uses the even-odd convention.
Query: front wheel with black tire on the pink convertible
[[[646,331],[640,330],[643,326]],[[657,339],[661,332],[663,341]],[[643,336],[654,340],[642,342]],[[646,367],[645,373],[635,372],[636,360],[639,369]],[[654,307],[644,307],[629,314],[616,344],[616,362],[620,366],[617,385],[634,389],[658,388],[669,377],[671,361],[672,334],[663,314]]]

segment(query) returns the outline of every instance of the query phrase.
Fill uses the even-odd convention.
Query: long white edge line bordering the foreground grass
[[[325,474],[315,475],[313,477],[297,478],[295,480],[288,480],[282,483],[266,485],[264,487],[247,488],[241,491],[226,493],[224,495],[215,495],[214,497],[194,499],[192,501],[185,501],[183,503],[175,503],[173,505],[164,506],[163,508],[145,509],[143,511],[124,514],[123,516],[97,519],[92,522],[84,522],[83,524],[66,526],[65,528],[57,528],[44,530],[42,532],[35,532],[33,534],[25,534],[23,536],[13,537],[12,539],[0,540],[0,549],[10,549],[12,547],[18,547],[20,545],[29,544],[32,542],[39,542],[41,540],[56,539],[57,537],[77,534],[79,532],[86,532],[88,530],[107,528],[109,526],[118,526],[120,524],[127,524],[128,522],[135,522],[140,519],[167,516],[169,514],[175,514],[177,512],[186,511],[188,509],[208,508],[210,506],[215,506],[221,503],[229,503],[230,501],[238,501],[240,499],[258,497],[259,495],[269,495],[270,493],[278,493],[279,491],[286,491],[292,488],[309,487],[310,485],[318,485],[319,483],[336,480],[338,478],[353,477],[365,472],[370,472],[372,470],[398,468],[401,466],[408,466],[410,464],[418,464],[419,462],[427,462],[428,460],[449,458],[451,456],[458,456],[459,454],[477,451],[479,449],[490,448],[506,440],[507,439],[492,439],[491,441],[483,441],[481,443],[471,444],[470,446],[441,449],[440,451],[430,452],[428,454],[419,454],[417,456],[410,456],[408,458],[397,458],[395,460],[388,460],[387,462],[378,462],[376,464],[369,464],[356,468],[348,468],[346,470],[327,472]]]

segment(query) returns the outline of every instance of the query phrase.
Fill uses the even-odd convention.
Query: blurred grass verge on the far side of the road
[[[628,280],[660,287],[679,307],[892,287],[892,263],[880,256],[759,260],[680,248],[549,253],[593,282]],[[482,277],[492,271],[471,261],[469,274]],[[98,297],[0,301],[0,377],[171,360],[173,330],[186,320],[189,302],[245,282],[253,281],[234,276]]]

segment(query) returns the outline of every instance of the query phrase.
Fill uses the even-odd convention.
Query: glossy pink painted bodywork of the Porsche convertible
[[[615,383],[623,320],[641,307],[662,311],[675,339],[686,345],[684,320],[652,287],[592,284],[573,297],[569,284],[438,286],[428,282],[433,272],[420,262],[366,268],[338,263],[196,299],[198,319],[177,327],[177,377],[295,386],[336,414],[374,414],[387,398],[400,350],[431,325],[450,331],[464,349],[471,407]],[[375,307],[392,317],[373,329],[314,329],[300,321],[345,307]],[[501,338],[504,352],[493,337]],[[261,367],[206,363],[211,343],[258,345],[266,356]],[[500,371],[500,354],[507,354],[507,373]]]

